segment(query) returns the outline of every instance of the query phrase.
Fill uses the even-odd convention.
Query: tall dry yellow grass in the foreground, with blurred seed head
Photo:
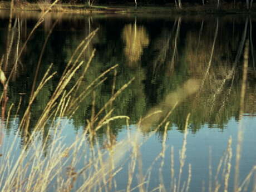
[[[41,24],[41,22],[42,21],[40,20],[38,24]],[[74,51],[55,91],[52,93],[52,96],[45,107],[45,110],[37,120],[37,124],[34,127],[33,132],[27,132],[29,136],[27,137],[28,141],[25,146],[21,150],[17,150],[16,144],[19,140],[18,134],[12,141],[11,145],[3,143],[1,149],[2,156],[0,159],[0,191],[117,191],[115,177],[120,170],[125,168],[125,163],[128,164],[129,171],[127,171],[127,183],[123,186],[124,191],[191,191],[190,183],[194,176],[193,165],[189,164],[188,159],[186,158],[186,146],[189,144],[187,138],[190,114],[186,118],[183,145],[179,151],[178,165],[174,162],[173,147],[171,150],[171,187],[164,185],[163,167],[166,156],[166,136],[168,134],[167,130],[170,124],[170,122],[168,122],[168,117],[171,115],[171,112],[175,110],[176,105],[179,105],[179,103],[187,96],[199,90],[199,83],[197,80],[189,80],[176,91],[171,92],[166,96],[163,104],[151,109],[146,116],[138,122],[137,125],[139,130],[141,132],[151,132],[150,135],[154,135],[157,129],[164,126],[162,149],[159,155],[155,157],[152,165],[147,169],[146,174],[142,170],[143,161],[140,157],[140,146],[144,144],[145,140],[142,140],[140,132],[128,132],[127,137],[124,140],[116,143],[115,138],[110,134],[110,122],[117,119],[125,119],[127,124],[126,126],[129,128],[129,117],[122,115],[112,116],[114,109],[110,109],[105,112],[108,107],[112,106],[112,102],[115,101],[116,97],[129,87],[132,81],[134,81],[134,78],[116,92],[114,82],[112,96],[109,101],[107,101],[99,111],[96,112],[95,110],[92,110],[91,118],[87,121],[85,130],[82,131],[81,134],[77,134],[77,137],[72,144],[69,146],[65,145],[65,139],[61,135],[60,131],[60,127],[65,127],[65,124],[63,124],[61,117],[71,117],[79,107],[80,103],[85,100],[88,95],[95,95],[95,92],[93,91],[94,88],[100,86],[101,83],[106,80],[106,74],[111,71],[115,71],[118,67],[118,65],[115,65],[99,74],[99,77],[93,80],[88,86],[83,87],[83,92],[77,92],[80,86],[82,86],[81,82],[83,80],[83,76],[86,75],[88,67],[90,67],[95,51],[92,52],[87,63],[80,61],[80,58],[82,53],[88,48],[88,45],[90,44],[93,36],[95,36],[97,30],[98,29],[90,33],[90,35],[87,36]],[[31,36],[32,33],[29,37]],[[28,40],[26,43],[27,42]],[[18,50],[17,59],[20,57],[22,50],[22,48],[21,50]],[[248,55],[247,49],[245,49],[244,55],[246,66],[248,59],[246,57]],[[38,62],[38,67],[39,66],[40,61]],[[83,71],[81,76],[75,83],[73,83],[72,88],[68,90],[67,85],[70,83],[71,78],[76,71],[82,68],[82,66]],[[34,88],[32,88],[29,104],[21,119],[19,130],[26,130],[29,126],[31,121],[31,106],[33,105],[38,93],[42,90],[42,87],[45,86],[47,81],[49,81],[55,73],[56,72],[52,72],[50,67],[37,88],[36,86],[33,86]],[[244,74],[244,76],[246,76],[246,73]],[[35,74],[35,81],[36,79],[37,74]],[[245,82],[246,78],[243,80],[243,86],[245,85]],[[8,85],[6,84],[6,80],[3,80],[2,83],[4,86]],[[184,95],[184,92],[188,94]],[[241,98],[244,100],[243,96]],[[95,106],[95,103],[93,102],[95,102],[95,100],[92,101],[92,106]],[[243,110],[242,102],[241,110]],[[10,108],[8,114],[11,113],[12,109]],[[158,126],[155,126],[156,129],[151,130],[151,128],[154,127],[154,124],[159,120],[161,121]],[[51,134],[52,142],[47,144],[47,142],[38,141],[38,138],[40,137],[38,132],[40,132],[43,127],[45,127],[46,123],[49,122],[51,123],[52,131],[47,135],[47,137],[50,137]],[[1,126],[8,126],[8,121],[6,124],[1,124]],[[93,140],[93,138],[97,137],[97,130],[103,129],[103,127],[107,127],[109,130],[107,131],[105,149],[102,149],[97,140]],[[91,145],[92,141],[94,141],[94,145]],[[242,182],[239,182],[239,156],[241,153],[239,147],[242,145],[242,142],[238,142],[236,165],[232,165],[232,158],[234,156],[232,150],[232,138],[227,142],[227,150],[221,157],[214,176],[211,175],[213,168],[209,165],[209,173],[211,175],[211,180],[209,180],[209,192],[230,191],[230,174],[232,166],[235,166],[236,169],[234,191],[246,191],[248,181],[252,179],[253,174],[255,174],[256,166],[252,168]],[[46,147],[48,152],[45,156],[45,151],[42,149],[46,149]],[[155,166],[155,162],[158,160],[161,162],[158,175],[159,186],[150,190],[150,178],[155,176],[152,175],[151,170],[152,167]],[[185,164],[189,165],[188,170],[184,170]],[[178,173],[175,173],[175,166],[179,167]],[[183,178],[183,173],[185,171],[188,175],[186,178]],[[137,179],[138,182],[134,186],[132,184],[135,179]],[[255,183],[253,184],[253,191],[256,191]]]

